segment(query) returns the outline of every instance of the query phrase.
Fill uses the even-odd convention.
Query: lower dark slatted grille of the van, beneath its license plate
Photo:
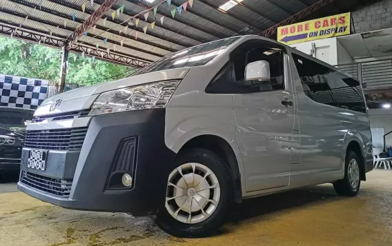
[[[41,192],[68,198],[72,187],[72,180],[66,181],[59,178],[50,178],[22,170],[21,183]]]

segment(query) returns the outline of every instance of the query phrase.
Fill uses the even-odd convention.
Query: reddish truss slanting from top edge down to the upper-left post
[[[88,17],[88,19],[86,19],[86,21],[84,21],[84,23],[81,24],[77,28],[77,30],[75,30],[75,32],[70,34],[70,37],[68,37],[68,42],[69,43],[74,43],[77,38],[81,37],[81,35],[84,34],[84,32],[86,32],[88,29],[92,28],[92,26],[95,25],[95,23],[97,23],[101,19],[101,17],[108,10],[110,10],[110,8],[112,8],[113,5],[115,5],[115,3],[117,1],[118,0],[104,0],[104,3],[102,3],[101,6],[99,6],[97,8],[97,10],[92,12],[90,17]]]

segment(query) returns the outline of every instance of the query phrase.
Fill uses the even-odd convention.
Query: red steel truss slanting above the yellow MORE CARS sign
[[[332,3],[333,1],[335,0],[318,1],[317,3],[309,6],[308,8],[305,8],[304,10],[297,12],[297,14],[294,14],[292,17],[289,17],[288,19],[285,19],[284,21],[277,23],[276,25],[273,25],[271,28],[268,28],[267,30],[260,32],[259,35],[263,37],[271,37],[273,34],[275,34],[277,28],[279,28],[280,26],[293,24],[296,21],[302,19],[302,17],[305,17],[306,15],[315,12],[316,10],[326,6],[328,3]]]

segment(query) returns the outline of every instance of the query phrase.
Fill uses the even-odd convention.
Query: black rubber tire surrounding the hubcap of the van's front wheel
[[[220,198],[215,212],[205,221],[197,224],[186,224],[173,218],[163,204],[162,208],[159,209],[155,221],[161,229],[164,229],[164,231],[169,232],[170,234],[176,234],[176,236],[208,236],[213,233],[217,227],[222,225],[226,212],[228,212],[228,209],[231,207],[234,194],[233,176],[231,175],[228,165],[222,158],[209,150],[193,149],[179,154],[173,170],[185,163],[200,163],[205,165],[215,174],[215,176],[217,176],[220,187]],[[170,170],[170,172],[171,171],[172,170]]]

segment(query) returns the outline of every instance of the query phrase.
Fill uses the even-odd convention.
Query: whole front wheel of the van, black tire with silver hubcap
[[[209,172],[206,171],[207,169],[209,169],[212,174],[208,174]],[[178,170],[182,170],[184,175],[179,174]],[[186,178],[188,179],[189,176],[189,174],[185,173],[191,172],[192,170],[193,182],[189,181],[188,183],[185,183],[186,186],[184,186],[183,183],[186,181]],[[196,180],[200,180],[200,176],[203,177],[203,179],[199,183],[199,181]],[[176,181],[177,178],[178,181]],[[169,185],[169,181],[170,183],[177,182],[176,187],[189,187],[192,186],[191,184],[193,183],[193,187],[195,189],[192,187],[190,189],[193,189],[193,191],[183,188],[177,189],[175,186]],[[197,185],[197,183],[199,183],[199,185]],[[203,188],[195,192],[197,189],[202,187],[202,184],[204,184],[204,188],[207,184],[208,188]],[[159,212],[156,214],[155,223],[157,223],[157,225],[165,232],[173,236],[184,238],[210,236],[216,232],[217,229],[219,229],[219,227],[224,223],[226,214],[233,204],[233,184],[233,176],[231,174],[230,168],[228,167],[227,163],[225,163],[225,161],[217,154],[202,148],[186,150],[179,154],[177,160],[175,161],[175,168],[173,168],[173,172],[170,173],[168,177],[166,201],[162,208],[159,209]],[[207,191],[207,195],[206,193],[203,193]],[[175,194],[186,195],[175,196]],[[205,198],[204,196],[209,196],[211,202],[205,203],[205,200],[201,200],[200,196],[203,198]],[[177,201],[174,197],[183,199],[184,204],[181,205],[182,200]],[[167,201],[168,198],[170,198],[170,201]],[[197,201],[197,199],[199,201]],[[189,204],[190,206],[186,206]],[[204,206],[203,204],[206,204],[204,209],[196,212],[193,211],[194,206],[198,206],[195,207],[195,209],[200,209]],[[185,208],[183,206],[185,206]],[[190,213],[184,212],[183,209],[190,211]],[[177,214],[173,214],[175,211]],[[173,214],[173,216],[171,214]]]

